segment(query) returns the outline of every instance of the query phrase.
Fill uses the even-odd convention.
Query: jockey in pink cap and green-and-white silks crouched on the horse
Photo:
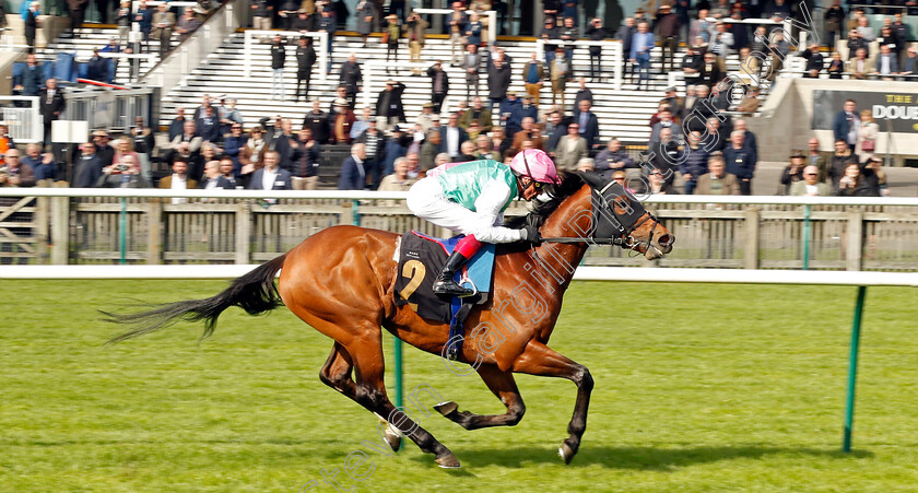
[[[459,240],[434,282],[434,293],[469,296],[452,277],[485,243],[538,243],[539,231],[499,226],[515,197],[532,200],[543,184],[557,184],[555,165],[544,151],[528,149],[509,166],[493,160],[445,164],[427,173],[408,191],[408,208],[437,226],[466,235]]]

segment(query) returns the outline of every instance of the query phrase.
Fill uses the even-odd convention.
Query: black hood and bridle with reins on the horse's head
[[[615,210],[615,206],[610,203],[610,195],[613,197],[613,201],[619,197],[629,196],[622,185],[612,180],[599,190],[590,185],[590,191],[591,193],[596,193],[593,200],[599,202],[593,203],[590,236],[546,237],[542,238],[542,242],[560,244],[589,243],[595,245],[617,245],[622,248],[635,251],[637,255],[640,254],[640,245],[646,244],[647,248],[645,251],[650,248],[659,251],[659,248],[652,245],[654,232],[657,231],[657,225],[660,224],[660,221],[654,214],[645,210],[644,206],[642,206],[637,200],[631,200],[627,204],[628,211],[624,213],[617,212]],[[650,228],[650,234],[647,235],[646,240],[637,240],[634,236],[632,236],[632,233],[634,233],[647,221],[654,222],[654,225]],[[607,233],[607,231],[609,231],[609,233]],[[660,254],[662,255],[661,251]]]

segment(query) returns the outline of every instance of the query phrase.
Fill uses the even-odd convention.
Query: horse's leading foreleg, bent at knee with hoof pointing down
[[[592,391],[593,386],[590,371],[540,342],[527,344],[526,350],[514,363],[513,371],[530,375],[567,378],[577,385],[577,402],[574,404],[574,415],[570,418],[570,424],[567,425],[567,432],[570,436],[564,441],[558,450],[564,462],[570,463],[570,459],[580,448],[580,438],[587,430],[587,411],[590,407],[590,391]]]

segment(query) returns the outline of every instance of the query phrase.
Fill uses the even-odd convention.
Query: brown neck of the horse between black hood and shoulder
[[[590,187],[565,199],[541,227],[543,237],[582,237],[587,238],[592,215]],[[587,243],[558,244],[544,243],[530,250],[538,271],[545,281],[558,286],[567,286],[574,278],[574,271],[587,253]],[[529,270],[529,269],[527,269]]]

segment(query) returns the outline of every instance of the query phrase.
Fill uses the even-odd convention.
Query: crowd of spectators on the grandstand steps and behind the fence
[[[426,69],[410,69],[412,77],[427,78],[431,94],[420,116],[409,119],[402,103],[405,85],[395,79],[386,82],[374,105],[356,105],[364,81],[362,60],[355,54],[337,72],[339,85],[329,106],[323,107],[317,94],[310,94],[313,73],[330,67],[316,68],[318,57],[308,34],[326,31],[327,48],[331,51],[334,31],[342,22],[338,3],[252,0],[255,28],[304,34],[276,34],[264,39],[270,44],[271,97],[309,102],[311,109],[302,119],[279,115],[246,127],[235,101],[204,95],[200,106],[178,108],[168,128],[168,144],[160,146],[158,154],[154,153],[154,131],[140,119],[114,144],[105,130],[95,131],[79,146],[69,171],[55,161],[54,154],[43,154],[44,149],[38,145],[30,145],[24,156],[19,155],[15,143],[5,137],[0,139],[0,152],[4,153],[0,184],[30,186],[40,179],[67,177],[79,187],[148,187],[156,181],[153,164],[162,162],[172,173],[157,180],[161,188],[308,190],[318,186],[325,153],[329,149],[345,149],[340,189],[404,190],[446,162],[507,161],[521,150],[542,149],[564,171],[596,171],[623,183],[629,171],[639,171],[646,177],[642,186],[654,192],[751,195],[758,161],[756,136],[748,129],[745,119],[735,115],[755,114],[760,84],[774,82],[776,69],[792,47],[780,32],[769,33],[766,25],[738,21],[777,22],[798,13],[784,0],[755,5],[726,0],[714,5],[706,1],[695,2],[694,7],[692,3],[663,1],[655,12],[637,9],[613,32],[599,17],[589,19],[581,30],[576,1],[544,1],[545,24],[540,33],[544,52],[533,51],[527,60],[514,60],[495,40],[486,38],[484,12],[492,4],[452,2],[451,13],[444,16],[442,26],[442,33],[449,36],[450,59],[435,60]],[[176,21],[166,3],[148,15],[150,9],[141,0],[142,13],[138,15],[126,2],[118,9],[117,20],[121,26],[123,19],[126,27],[131,22],[141,23],[144,39],[161,39],[168,49],[172,32],[163,30],[175,28],[183,35],[193,32],[202,21],[200,15],[215,7],[201,5],[203,14],[186,9],[181,20]],[[79,12],[71,15],[79,19]],[[381,43],[387,46],[387,61],[393,68],[402,46],[408,48],[411,61],[424,59],[426,34],[433,26],[405,9],[403,2],[391,1],[386,10],[381,2],[361,0],[354,15],[364,43],[369,42],[372,33],[384,34]],[[148,17],[150,22],[144,24]],[[800,51],[807,59],[804,77],[819,77],[823,71],[829,78],[895,78],[911,73],[916,56],[914,49],[906,48],[909,35],[901,13],[886,17],[879,34],[870,28],[862,10],[852,9],[848,15],[837,0],[825,19],[825,28],[831,33],[824,39],[827,46],[813,44]],[[643,155],[628,153],[619,139],[600,139],[601,120],[593,110],[589,84],[601,83],[611,68],[602,67],[602,45],[580,47],[569,43],[581,37],[592,42],[622,40],[626,52],[624,71],[632,83],[636,79],[638,89],[649,86],[651,49],[656,46],[662,48],[659,66],[663,71],[683,71],[685,95],[679,96],[675,87],[667,87],[666,97],[648,121],[650,138]],[[851,51],[847,62],[841,62],[840,55],[834,51],[843,37]],[[878,38],[879,54],[868,54],[867,42]],[[680,43],[686,44],[687,52],[678,62],[675,51]],[[822,55],[823,48],[831,50],[828,58]],[[585,50],[590,60],[589,72],[579,77],[572,64],[575,49]],[[287,50],[296,63],[297,83],[292,91],[284,87],[283,78]],[[770,55],[761,60],[752,56],[755,52]],[[740,67],[749,75],[742,84],[746,94],[742,101],[731,96],[735,83],[723,82],[726,60],[732,55],[739,55]],[[444,63],[461,69],[462,81],[450,81]],[[47,140],[50,121],[63,108],[63,96],[56,81],[42,81],[40,73],[34,56],[30,56],[16,90],[39,96]],[[510,91],[511,80],[520,79],[525,91]],[[459,92],[464,97],[450,111],[443,113],[447,95],[455,96],[456,87],[462,87],[463,82],[464,91]],[[541,97],[543,87],[551,89],[551,102]],[[876,133],[870,113],[857,113],[856,103],[849,101],[834,120],[835,152],[820,152],[817,141],[811,141],[808,152],[795,152],[781,175],[778,192],[885,195],[885,175],[874,154]]]

